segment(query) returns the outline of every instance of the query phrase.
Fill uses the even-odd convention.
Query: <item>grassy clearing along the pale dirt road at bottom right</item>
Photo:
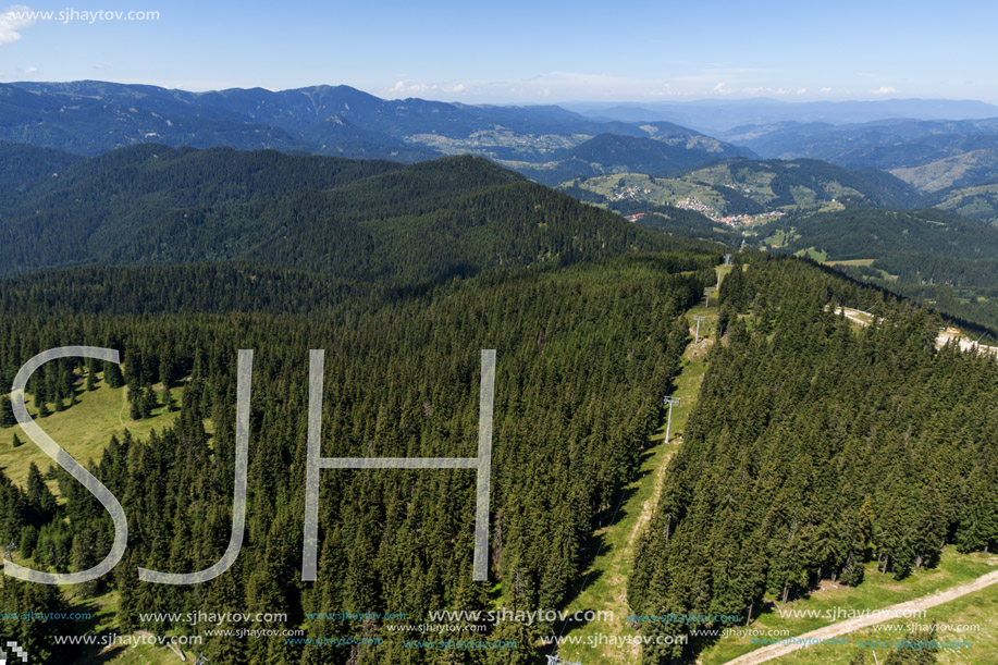
[[[866,566],[866,578],[862,584],[857,588],[842,587],[842,586],[833,586],[827,582],[823,584],[823,588],[811,593],[810,596],[800,599],[798,601],[787,603],[783,607],[784,611],[793,609],[793,611],[812,611],[816,613],[817,617],[781,617],[779,616],[779,606],[774,599],[768,599],[766,607],[763,611],[763,614],[757,617],[756,620],[750,626],[754,630],[789,630],[790,636],[800,636],[811,630],[817,628],[823,628],[833,624],[834,621],[827,617],[834,616],[836,608],[841,608],[843,612],[854,611],[857,613],[864,609],[880,609],[889,605],[897,603],[902,603],[904,601],[910,601],[923,595],[928,595],[937,591],[942,591],[950,589],[958,584],[969,582],[974,580],[982,575],[990,572],[995,569],[995,566],[998,566],[998,557],[986,555],[983,553],[974,554],[959,554],[952,546],[947,546],[939,566],[933,569],[921,569],[916,570],[911,577],[903,580],[895,580],[889,575],[880,575],[876,572],[876,564],[871,562]],[[988,605],[984,602],[977,602],[975,599],[984,598],[985,592],[995,593],[994,587],[988,590],[982,591],[979,593],[973,593],[963,599],[958,599],[952,603],[947,603],[946,605],[940,605],[927,611],[927,617],[940,616],[946,613],[947,607],[957,606],[960,603],[965,603],[968,608],[971,606],[977,608],[994,607],[994,605]],[[991,616],[998,616],[993,614]],[[848,618],[847,617],[840,617]],[[944,619],[939,619],[944,620]],[[991,619],[995,621],[996,619]],[[890,623],[910,623],[910,620],[904,621],[885,621],[885,624]],[[921,619],[919,623],[922,621]],[[928,620],[931,623],[931,618]],[[947,623],[950,623],[947,619]],[[961,621],[963,623],[963,621]],[[970,623],[979,623],[979,621],[970,621]],[[864,629],[859,631],[855,635],[865,635],[867,631],[873,633],[873,628]],[[879,633],[879,638],[859,638],[859,639],[890,639],[884,638],[884,635],[890,636],[891,633]],[[898,635],[897,637],[903,637],[903,633]],[[961,639],[957,638],[946,638],[946,639]],[[855,641],[855,640],[853,640]],[[989,641],[989,644],[994,645],[994,641]],[[754,651],[761,645],[754,645],[750,643],[750,638],[748,637],[725,637],[718,640],[714,645],[703,652],[701,662],[703,665],[720,665],[722,663],[727,663],[731,658],[739,656],[743,653]],[[849,658],[853,655],[853,650],[828,645],[823,648],[827,650],[827,654],[831,657],[834,654],[839,654],[847,656],[842,663],[848,663]],[[780,658],[778,662],[796,662],[796,663],[838,663],[838,660],[823,660],[820,656],[816,656],[817,652],[812,649],[805,649],[800,654],[791,654]],[[824,653],[824,652],[823,652]],[[791,661],[789,658],[798,657],[803,660]],[[838,657],[838,656],[836,656]],[[872,661],[871,661],[872,662]],[[952,662],[973,662],[973,663],[995,663],[998,661],[952,661]]]

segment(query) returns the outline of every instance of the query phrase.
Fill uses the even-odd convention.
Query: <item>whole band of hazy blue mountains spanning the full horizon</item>
[[[825,180],[798,187],[794,200],[860,193],[870,202],[927,202],[998,219],[998,107],[977,101],[751,99],[572,104],[569,110],[386,100],[348,86],[190,93],[95,81],[15,83],[0,84],[0,141],[9,141],[0,146],[0,185],[60,171],[79,156],[143,143],[405,163],[471,153],[540,183],[565,186],[626,174],[689,181],[688,174],[730,160],[806,158],[864,172],[853,176],[820,169]],[[61,152],[28,157],[25,144]],[[27,162],[32,165],[19,167]],[[871,169],[890,172],[928,198],[917,199]],[[847,181],[863,186],[857,189]],[[889,192],[871,190],[871,183]],[[605,189],[597,185],[590,190]],[[699,185],[716,190],[717,183]],[[730,187],[722,194],[718,201],[737,198]],[[743,202],[724,207],[746,209]]]

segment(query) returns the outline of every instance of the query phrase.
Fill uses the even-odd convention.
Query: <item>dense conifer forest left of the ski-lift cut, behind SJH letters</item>
[[[307,317],[198,313],[220,309],[207,291],[171,301],[172,313],[123,316],[133,307],[147,311],[136,306],[143,292],[128,295],[130,283],[148,280],[170,291],[173,278],[163,269],[95,273],[91,284],[120,282],[103,292],[106,310],[114,313],[95,312],[95,301],[78,298],[90,288],[85,272],[21,278],[4,283],[10,292],[44,287],[50,297],[37,310],[26,309],[28,298],[20,295],[0,304],[0,377],[9,381],[41,349],[91,344],[121,349],[124,358],[118,379],[107,373],[111,366],[89,367],[107,370],[94,384],[98,390],[106,381],[145,396],[157,382],[185,386],[175,428],[148,441],[112,442],[96,470],[128,515],[130,549],[114,575],[86,586],[85,593],[116,590],[123,631],[140,626],[138,612],[286,612],[289,626],[301,625],[312,637],[385,641],[303,651],[282,640],[212,638],[205,652],[213,663],[342,663],[347,656],[358,663],[439,662],[436,653],[403,646],[403,637],[417,636],[380,623],[307,621],[304,613],[397,612],[409,624],[432,609],[485,607],[496,593],[507,607],[564,603],[584,565],[595,515],[632,476],[660,423],[661,396],[687,342],[679,315],[713,281],[716,260],[705,254],[636,256],[493,273],[423,295],[346,297],[338,305],[325,304],[317,291]],[[192,279],[198,274],[207,273]],[[259,276],[308,285],[293,273]],[[138,582],[138,566],[201,569],[227,542],[238,348],[255,349],[242,554],[206,584]],[[479,349],[497,349],[490,583],[471,582],[475,475],[461,470],[324,472],[319,581],[298,580],[310,348],[326,349],[323,455],[399,457],[473,456]],[[89,377],[87,368],[86,361],[50,364],[28,392],[52,410],[75,408],[73,395],[83,389],[74,379]],[[25,494],[7,485],[0,535],[21,543],[19,561],[30,556],[28,565],[81,569],[103,557],[110,522],[81,485],[61,481],[60,488],[66,503],[57,507],[37,488]],[[22,587],[0,593],[11,600]],[[502,662],[528,662],[542,628],[510,623],[473,637],[517,640],[520,646],[504,650]],[[40,623],[17,628],[33,644],[52,629]],[[459,662],[490,657],[469,652]]]

